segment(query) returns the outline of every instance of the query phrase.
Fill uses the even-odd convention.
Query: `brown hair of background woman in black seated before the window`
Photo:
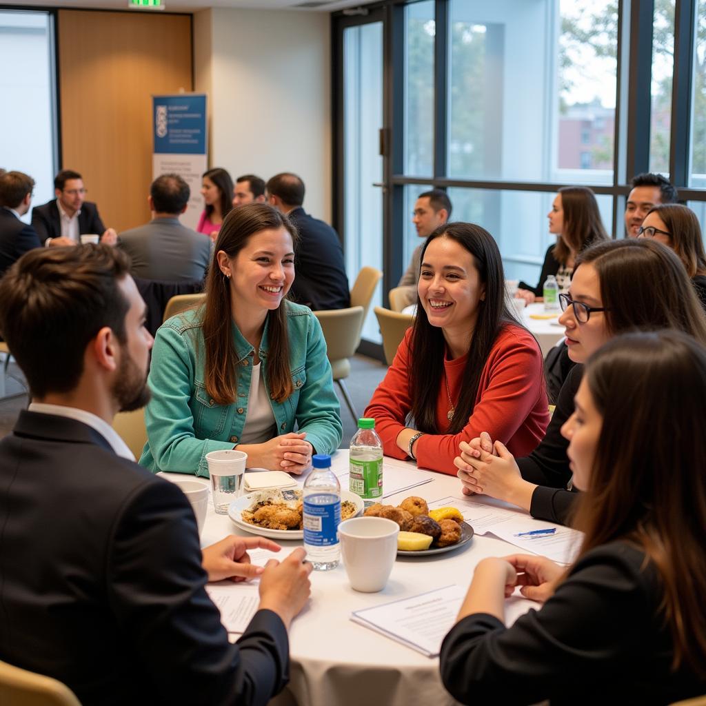
[[[564,227],[554,246],[554,258],[566,265],[570,256],[577,256],[588,246],[608,239],[593,191],[586,186],[564,186],[561,210]]]

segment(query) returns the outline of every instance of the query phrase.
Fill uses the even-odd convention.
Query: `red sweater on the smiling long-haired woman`
[[[412,408],[409,395],[410,328],[397,349],[385,379],[375,390],[365,410],[376,420],[375,429],[383,440],[385,455],[407,458],[395,443],[405,429]],[[457,404],[467,356],[444,360],[451,399]],[[449,410],[443,383],[436,402],[438,429],[448,429]],[[424,434],[417,441],[417,465],[450,475],[456,474],[453,459],[461,441],[470,441],[487,431],[493,441],[502,441],[515,456],[525,456],[544,438],[549,409],[544,392],[542,352],[532,334],[524,328],[506,325],[498,335],[481,373],[473,413],[457,434]]]

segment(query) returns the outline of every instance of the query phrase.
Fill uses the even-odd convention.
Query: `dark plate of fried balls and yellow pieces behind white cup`
[[[410,496],[399,505],[376,503],[364,515],[386,517],[400,525],[397,556],[428,556],[453,551],[468,544],[473,527],[463,521],[457,508],[429,510],[424,498]]]

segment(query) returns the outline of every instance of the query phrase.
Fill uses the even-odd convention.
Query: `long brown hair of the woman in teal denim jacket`
[[[218,252],[234,258],[249,239],[263,230],[286,228],[296,246],[297,229],[287,216],[265,203],[249,203],[234,208],[223,221],[213,248],[213,259],[206,280],[203,307],[203,340],[205,343],[205,387],[219,405],[229,405],[237,395],[235,369],[237,355],[231,332],[232,314],[230,282],[218,265]],[[289,370],[289,338],[287,337],[287,304],[268,311],[267,382],[270,395],[283,402],[294,391]]]

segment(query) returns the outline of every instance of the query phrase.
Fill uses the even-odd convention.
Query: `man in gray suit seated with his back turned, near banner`
[[[130,256],[133,277],[160,282],[203,280],[211,241],[179,222],[189,193],[189,184],[179,174],[162,174],[152,181],[148,197],[152,220],[121,233],[118,241]]]

